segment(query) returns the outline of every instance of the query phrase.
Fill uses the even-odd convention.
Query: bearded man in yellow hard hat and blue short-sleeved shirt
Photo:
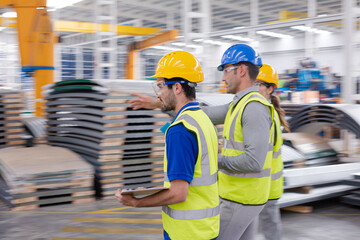
[[[175,51],[158,63],[154,90],[163,111],[176,117],[165,131],[164,185],[168,190],[120,203],[133,207],[163,206],[165,239],[216,239],[219,234],[217,130],[195,101],[195,86],[204,74],[188,52]]]

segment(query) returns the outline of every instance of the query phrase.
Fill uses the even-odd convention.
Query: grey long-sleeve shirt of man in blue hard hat
[[[238,103],[246,94],[258,92],[258,90],[258,87],[250,87],[238,92],[234,96],[234,104]],[[222,124],[229,110],[229,104],[202,107],[201,109],[214,124]],[[237,173],[260,172],[265,164],[268,151],[271,123],[270,111],[265,105],[259,102],[249,103],[241,118],[245,152],[235,157],[219,155],[219,168]]]

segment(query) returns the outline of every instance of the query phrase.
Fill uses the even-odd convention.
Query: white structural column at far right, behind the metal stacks
[[[344,103],[354,103],[358,96],[355,96],[355,79],[359,76],[358,66],[355,66],[354,51],[356,51],[355,42],[359,42],[359,36],[357,35],[357,16],[359,13],[359,5],[357,0],[343,0],[343,13],[344,13],[344,64],[345,64],[345,77],[342,82],[341,97]],[[360,98],[359,98],[360,99]]]

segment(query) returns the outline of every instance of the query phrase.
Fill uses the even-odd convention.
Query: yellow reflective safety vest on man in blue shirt
[[[167,131],[180,123],[196,134],[198,157],[186,201],[163,207],[164,230],[172,240],[213,239],[219,235],[220,229],[217,130],[200,109],[180,113]],[[170,187],[166,173],[166,146],[164,155],[164,185]]]

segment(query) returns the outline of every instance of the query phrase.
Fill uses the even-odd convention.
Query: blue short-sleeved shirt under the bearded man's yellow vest
[[[176,118],[185,108],[186,110],[200,109],[199,103],[188,103],[180,109]],[[195,133],[187,130],[182,124],[169,128],[166,135],[167,175],[169,181],[182,179],[190,183],[194,177],[197,156],[198,145]],[[165,231],[164,239],[170,240]]]

